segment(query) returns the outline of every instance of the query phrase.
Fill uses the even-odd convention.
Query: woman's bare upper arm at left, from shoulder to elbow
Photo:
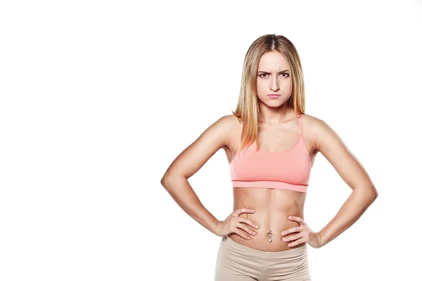
[[[173,160],[163,178],[193,176],[215,152],[228,145],[230,132],[236,128],[236,119],[234,115],[224,115],[207,126],[200,136]]]

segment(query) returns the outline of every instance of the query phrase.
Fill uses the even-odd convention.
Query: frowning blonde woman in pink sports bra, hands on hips
[[[311,280],[307,244],[319,248],[362,216],[378,192],[341,138],[305,112],[300,58],[283,36],[255,40],[245,55],[233,115],[219,118],[170,164],[162,185],[193,219],[222,237],[215,280]],[[234,211],[212,216],[193,176],[220,148],[234,188]],[[352,188],[338,214],[314,232],[304,219],[309,176],[321,152]]]

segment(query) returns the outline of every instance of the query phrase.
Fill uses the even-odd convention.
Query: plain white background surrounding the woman
[[[308,245],[312,280],[421,280],[422,3],[409,0],[2,1],[0,280],[213,280],[221,237],[160,179],[235,110],[245,53],[272,33],[298,49],[305,113],[379,193]],[[223,150],[189,182],[231,213]],[[350,192],[319,154],[305,221],[321,230]]]

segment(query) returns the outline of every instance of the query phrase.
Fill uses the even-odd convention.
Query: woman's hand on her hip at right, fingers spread
[[[286,236],[289,233],[298,233],[295,235],[292,235],[290,237],[284,237],[284,242],[290,242],[288,244],[289,247],[295,247],[298,244],[302,244],[304,242],[307,242],[309,245],[311,245],[314,248],[320,248],[322,247],[321,242],[321,235],[320,233],[314,233],[311,228],[303,221],[302,218],[298,216],[289,216],[288,219],[290,221],[297,221],[299,223],[299,226],[295,226],[294,228],[289,228],[287,230],[284,230],[281,235]]]

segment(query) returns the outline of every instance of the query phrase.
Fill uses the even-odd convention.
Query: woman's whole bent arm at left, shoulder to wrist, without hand
[[[234,129],[234,115],[226,115],[209,126],[191,145],[174,159],[161,179],[161,185],[172,198],[203,227],[216,234],[219,220],[205,209],[188,178],[193,176],[212,155],[228,144],[229,134]]]

